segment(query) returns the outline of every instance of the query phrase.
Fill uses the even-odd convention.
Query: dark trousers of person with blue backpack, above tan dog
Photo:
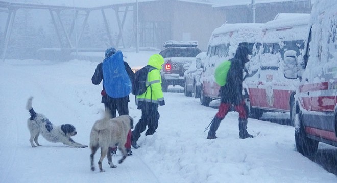
[[[116,117],[116,112],[119,115],[129,115],[129,96],[122,98],[108,98],[105,101],[104,106],[111,112],[111,117]]]

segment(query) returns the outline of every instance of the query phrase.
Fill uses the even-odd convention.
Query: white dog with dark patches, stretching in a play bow
[[[63,124],[55,126],[43,114],[36,113],[32,107],[32,100],[33,97],[30,97],[26,105],[26,109],[31,114],[31,117],[27,120],[27,126],[31,133],[29,141],[31,142],[32,147],[36,147],[33,141],[37,146],[41,146],[37,141],[40,133],[50,142],[62,142],[65,145],[80,148],[88,147],[87,145],[77,143],[70,138],[77,134],[76,128],[73,125]]]

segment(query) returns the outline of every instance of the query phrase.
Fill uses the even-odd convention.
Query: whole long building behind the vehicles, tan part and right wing
[[[256,23],[274,19],[278,13],[310,13],[310,0],[264,3],[256,5]],[[207,50],[212,31],[227,23],[251,23],[251,5],[212,8],[210,4],[192,3],[177,0],[149,1],[139,4],[140,24],[151,24],[140,28],[140,39],[145,46],[163,48],[167,40],[196,40],[202,51]]]

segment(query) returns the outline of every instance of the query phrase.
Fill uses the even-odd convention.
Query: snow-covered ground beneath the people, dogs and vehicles
[[[102,53],[103,55],[103,53]],[[129,53],[147,60],[150,54]],[[129,59],[130,58],[130,59]],[[337,182],[336,175],[297,153],[294,127],[249,119],[253,139],[239,139],[238,114],[230,112],[207,140],[205,127],[217,112],[216,106],[200,105],[199,99],[185,97],[181,88],[164,93],[165,106],[153,136],[140,137],[139,149],[117,168],[90,171],[89,148],[72,148],[39,138],[42,146],[29,143],[25,109],[33,96],[33,107],[55,125],[73,124],[73,140],[89,144],[95,120],[102,117],[102,85],[93,85],[91,76],[97,62],[71,60],[5,60],[0,63],[0,182]],[[146,63],[146,61],[145,61]],[[216,105],[216,101],[215,105]],[[214,102],[212,104],[214,104]],[[141,116],[130,95],[130,115],[135,123]],[[337,152],[337,148],[321,144]],[[95,155],[95,166],[100,150]]]

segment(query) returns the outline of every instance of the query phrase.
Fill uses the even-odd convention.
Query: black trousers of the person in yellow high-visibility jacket
[[[140,133],[145,131],[146,126],[148,130],[145,135],[153,135],[158,128],[159,112],[158,104],[145,102],[141,107],[141,118],[138,121],[135,129],[132,131],[132,140],[137,141],[140,137]]]

